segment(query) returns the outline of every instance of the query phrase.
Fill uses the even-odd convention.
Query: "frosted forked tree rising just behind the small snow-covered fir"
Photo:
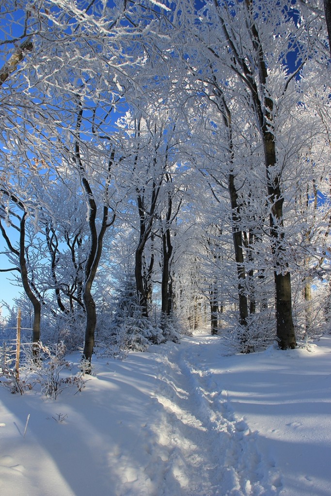
[[[156,221],[162,216],[164,194],[167,198],[165,208],[167,208],[168,213],[166,215],[169,215],[168,223],[170,222],[171,200],[169,200],[168,186],[171,183],[170,170],[176,161],[176,156],[172,150],[175,146],[176,135],[174,132],[175,124],[163,109],[149,105],[144,109],[144,115],[146,117],[142,117],[141,111],[137,117],[128,113],[122,122],[128,134],[128,145],[130,144],[125,152],[126,159],[123,160],[127,171],[125,181],[128,185],[132,185],[132,203],[138,213],[138,238],[134,264],[136,291],[143,316],[148,317],[154,253],[150,252],[149,262],[146,263],[145,248],[148,241],[154,243],[154,238],[159,230]],[[168,265],[164,268],[166,271],[171,256],[167,249],[171,251],[171,248],[169,245],[166,248],[167,240],[170,241],[169,233],[167,235],[165,232],[167,228],[164,229],[163,226],[162,229],[162,246],[164,243],[165,256],[169,256],[166,262]],[[167,283],[165,282],[166,278]],[[165,291],[165,285],[168,284],[168,279],[169,270],[167,274],[163,273],[164,285],[161,284],[163,291]],[[162,302],[165,305],[164,299]]]

